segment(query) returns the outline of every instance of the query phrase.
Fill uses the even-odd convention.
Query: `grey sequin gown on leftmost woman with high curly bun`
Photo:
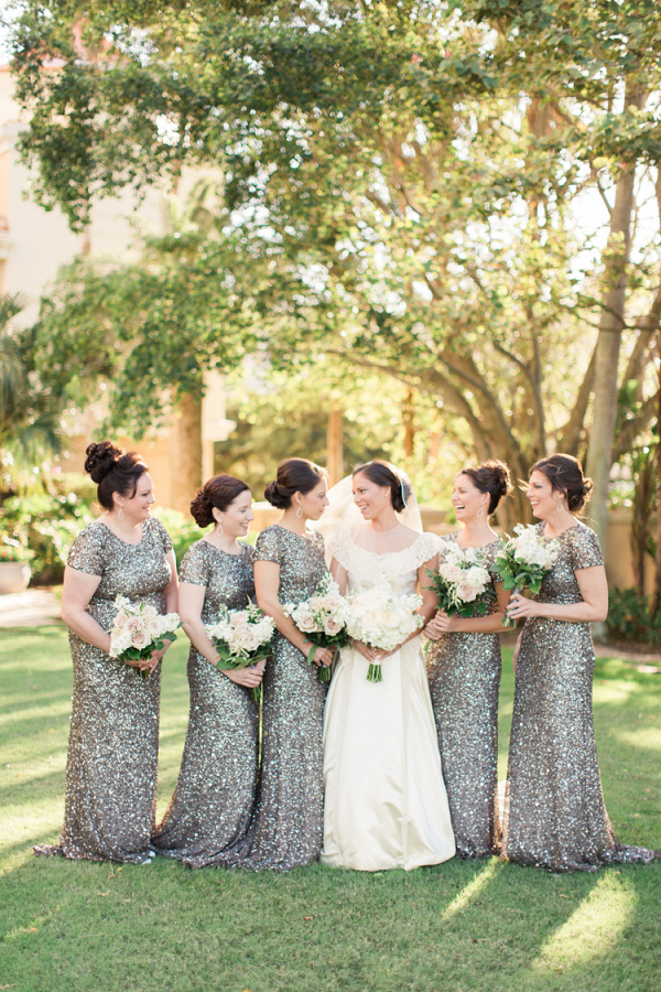
[[[95,520],[78,535],[67,564],[100,575],[87,612],[110,630],[116,596],[165,613],[163,591],[172,548],[155,517],[142,539],[128,544]],[[56,848],[39,854],[139,863],[147,853],[156,809],[161,666],[150,679],[69,630],[74,661],[72,726],[66,765],[64,827]]]

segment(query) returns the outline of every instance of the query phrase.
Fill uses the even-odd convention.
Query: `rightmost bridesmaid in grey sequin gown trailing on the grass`
[[[525,617],[517,651],[510,740],[509,812],[502,854],[552,872],[595,871],[651,861],[620,844],[604,807],[595,747],[590,621],[608,613],[597,536],[576,519],[592,489],[581,463],[555,454],[532,466],[528,498],[540,535],[560,553],[531,599],[512,595],[508,615]]]

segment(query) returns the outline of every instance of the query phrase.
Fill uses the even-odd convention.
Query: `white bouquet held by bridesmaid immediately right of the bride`
[[[438,608],[448,616],[485,616],[486,601],[492,599],[491,576],[478,548],[460,548],[447,543],[438,571],[429,571],[432,587],[438,596]],[[481,599],[480,599],[481,597]]]

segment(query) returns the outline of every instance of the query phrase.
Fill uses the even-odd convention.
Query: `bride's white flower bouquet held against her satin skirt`
[[[379,650],[393,650],[423,624],[415,613],[422,605],[422,596],[395,596],[382,573],[371,589],[349,594],[346,603],[349,637]],[[370,665],[367,678],[380,682],[381,666]]]

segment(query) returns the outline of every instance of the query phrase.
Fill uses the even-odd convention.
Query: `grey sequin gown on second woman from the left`
[[[228,554],[201,540],[186,551],[180,583],[205,586],[202,619],[218,607],[242,610],[254,600],[254,550]],[[217,863],[248,828],[257,778],[257,708],[250,693],[214,668],[192,645],[191,712],[178,781],[153,848],[189,867]]]

